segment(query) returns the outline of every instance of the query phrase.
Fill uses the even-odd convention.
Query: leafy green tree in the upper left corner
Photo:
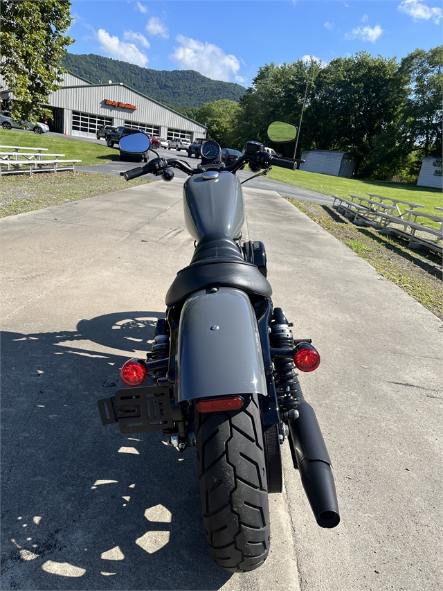
[[[63,0],[0,2],[0,73],[14,92],[10,111],[17,121],[46,117],[48,96],[60,88],[62,55],[74,42],[71,3]]]

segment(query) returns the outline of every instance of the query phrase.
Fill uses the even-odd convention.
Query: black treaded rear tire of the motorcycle
[[[257,395],[241,410],[195,411],[197,469],[206,542],[219,567],[247,572],[269,553],[269,504]]]

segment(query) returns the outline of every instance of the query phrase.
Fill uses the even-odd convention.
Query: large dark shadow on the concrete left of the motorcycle
[[[219,589],[195,450],[102,427],[96,400],[150,349],[159,312],[1,335],[2,589]]]

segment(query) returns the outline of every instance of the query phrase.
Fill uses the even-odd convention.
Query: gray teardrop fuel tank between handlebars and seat
[[[244,222],[242,186],[232,173],[204,173],[190,177],[183,185],[186,228],[200,240],[221,232],[237,238]]]

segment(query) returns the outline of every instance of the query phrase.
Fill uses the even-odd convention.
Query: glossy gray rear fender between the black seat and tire
[[[247,295],[234,288],[189,297],[177,343],[178,400],[267,395],[257,319]]]

